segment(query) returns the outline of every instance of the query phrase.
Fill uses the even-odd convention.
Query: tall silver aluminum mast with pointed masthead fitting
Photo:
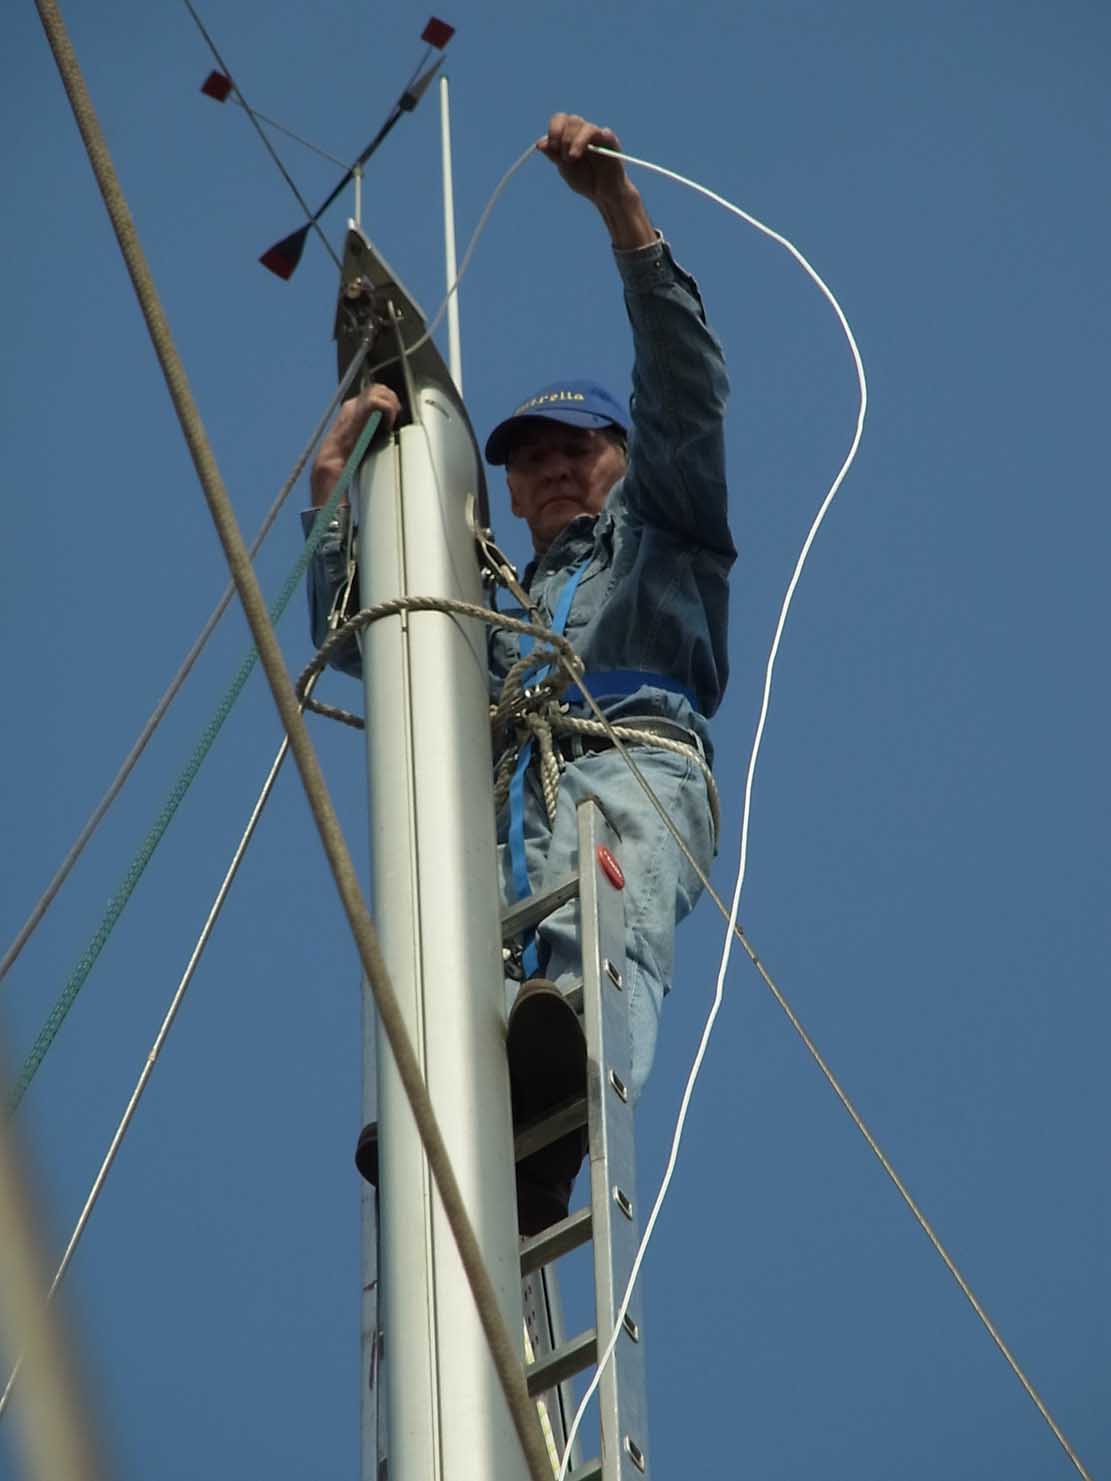
[[[379,329],[373,361],[397,355],[398,333],[410,345],[424,333],[419,310],[354,227],[342,281],[341,373],[367,323]],[[486,489],[452,376],[427,341],[379,379],[404,413],[358,478],[360,606],[397,595],[480,603],[470,517],[486,523]],[[363,635],[373,914],[507,1327],[521,1333],[486,632],[419,612]],[[524,1457],[400,1080],[385,1041],[373,1041],[364,992],[364,1111],[379,1123],[390,1481],[523,1481]],[[372,1208],[367,1189],[364,1231]],[[370,1238],[364,1232],[364,1287]],[[373,1481],[366,1388],[363,1414],[363,1477]]]

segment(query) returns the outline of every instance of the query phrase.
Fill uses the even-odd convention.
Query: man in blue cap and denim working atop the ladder
[[[536,558],[523,582],[530,603],[547,622],[561,625],[606,715],[643,735],[635,761],[708,871],[715,840],[698,763],[713,757],[707,720],[727,677],[727,579],[736,558],[721,427],[727,379],[693,278],[675,265],[622,163],[590,153],[591,144],[619,148],[610,129],[558,113],[538,148],[594,204],[610,235],[635,350],[633,435],[628,440],[625,415],[601,387],[564,381],[526,398],[501,422],[486,459],[505,467],[513,512],[532,533]],[[370,387],[336,418],[313,469],[314,505],[326,502],[375,409],[393,424],[397,398],[385,387]],[[326,610],[335,570],[335,551],[321,546],[311,578],[317,613]],[[495,631],[495,692],[517,656],[518,638]],[[588,714],[582,705],[573,711]],[[655,746],[653,738],[678,740],[686,751]],[[566,766],[554,823],[535,766],[521,775],[516,818],[507,807],[498,819],[502,893],[516,899],[542,890],[572,869],[576,803],[585,795],[601,803],[622,840],[635,1097],[670,989],[674,927],[693,908],[701,883],[607,742],[569,736],[560,749]],[[578,902],[538,927],[526,970],[533,980],[510,1014],[518,1120],[563,1099],[585,1063],[578,1019],[557,991],[581,976]],[[523,1234],[566,1214],[581,1158],[575,1133],[520,1164]]]

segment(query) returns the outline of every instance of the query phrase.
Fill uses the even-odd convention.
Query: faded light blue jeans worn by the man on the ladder
[[[705,782],[692,760],[652,745],[631,748],[637,767],[708,874],[714,832]],[[695,908],[702,881],[680,853],[637,779],[616,751],[569,761],[560,782],[556,825],[548,826],[536,766],[524,783],[524,852],[529,881],[545,890],[578,868],[576,807],[595,797],[621,834],[618,860],[625,874],[625,980],[633,1040],[633,1097],[644,1089],[656,1053],[664,997],[671,991],[675,926]],[[499,818],[498,865],[502,899],[514,899],[508,809]],[[582,976],[579,902],[569,900],[536,929],[539,970],[560,985]],[[516,992],[516,983],[514,983]]]

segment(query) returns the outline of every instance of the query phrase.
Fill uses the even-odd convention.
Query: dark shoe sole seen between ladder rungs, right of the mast
[[[507,1050],[514,1129],[585,1096],[587,1037],[554,982],[533,977],[517,994]],[[517,1223],[523,1235],[541,1234],[567,1217],[572,1183],[585,1154],[587,1129],[576,1127],[517,1164]]]

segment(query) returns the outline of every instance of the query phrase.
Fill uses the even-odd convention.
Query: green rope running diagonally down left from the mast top
[[[339,483],[332,490],[332,498],[317,511],[317,517],[313,521],[313,529],[310,530],[308,539],[305,541],[305,548],[298,557],[296,564],[286,578],[286,584],[277,594],[274,604],[270,609],[271,622],[277,622],[281,613],[289,606],[289,598],[293,595],[298,585],[301,584],[301,579],[305,575],[305,570],[308,569],[308,563],[313,558],[317,545],[323,539],[324,530],[327,529],[327,524],[332,515],[335,514],[339,501],[347,492],[348,484],[351,483],[360,462],[363,461],[366,449],[369,447],[370,438],[375,435],[375,431],[378,429],[378,424],[381,422],[381,419],[382,419],[381,412],[372,413],[372,416],[369,418],[366,427],[363,428],[358,437],[358,441],[356,443],[354,452],[348,458],[347,465],[342,474],[339,475]],[[212,749],[212,745],[216,736],[219,735],[224,721],[231,714],[231,708],[238,699],[240,693],[243,692],[243,686],[250,678],[250,672],[256,663],[258,663],[258,649],[252,647],[250,652],[243,659],[243,662],[240,663],[236,677],[231,680],[231,684],[228,684],[228,689],[224,698],[221,699],[219,705],[216,706],[216,712],[213,714],[212,720],[209,720],[207,726],[204,726],[204,730],[201,732],[200,739],[197,740],[197,745],[193,749],[193,755],[188,758],[181,775],[178,776],[178,780],[170,788],[170,794],[163,803],[161,812],[154,819],[154,825],[151,826],[150,832],[139,846],[138,853],[132,859],[127,872],[123,877],[123,883],[120,884],[116,895],[113,895],[113,897],[108,900],[108,909],[104,912],[104,918],[98,926],[96,933],[93,935],[92,940],[81,954],[77,966],[70,973],[70,977],[65,986],[62,988],[58,1001],[50,1009],[50,1016],[46,1019],[46,1023],[43,1023],[43,1028],[40,1029],[39,1037],[36,1038],[34,1046],[31,1047],[31,1053],[27,1056],[27,1062],[24,1063],[24,1068],[19,1072],[19,1078],[16,1080],[12,1093],[7,1097],[9,1114],[13,1112],[15,1108],[22,1100],[27,1087],[36,1077],[36,1071],[46,1057],[46,1052],[58,1037],[58,1031],[65,1022],[67,1013],[73,1007],[77,994],[84,986],[89,973],[96,964],[96,958],[104,951],[104,946],[107,945],[108,937],[111,936],[113,929],[119,921],[120,915],[123,915],[124,906],[127,905],[127,900],[132,897],[135,892],[135,886],[139,883],[142,872],[150,863],[154,850],[161,843],[163,834],[169,828],[173,815],[184,801],[185,794],[193,785],[194,778],[197,776],[197,772],[200,772],[201,763]]]

